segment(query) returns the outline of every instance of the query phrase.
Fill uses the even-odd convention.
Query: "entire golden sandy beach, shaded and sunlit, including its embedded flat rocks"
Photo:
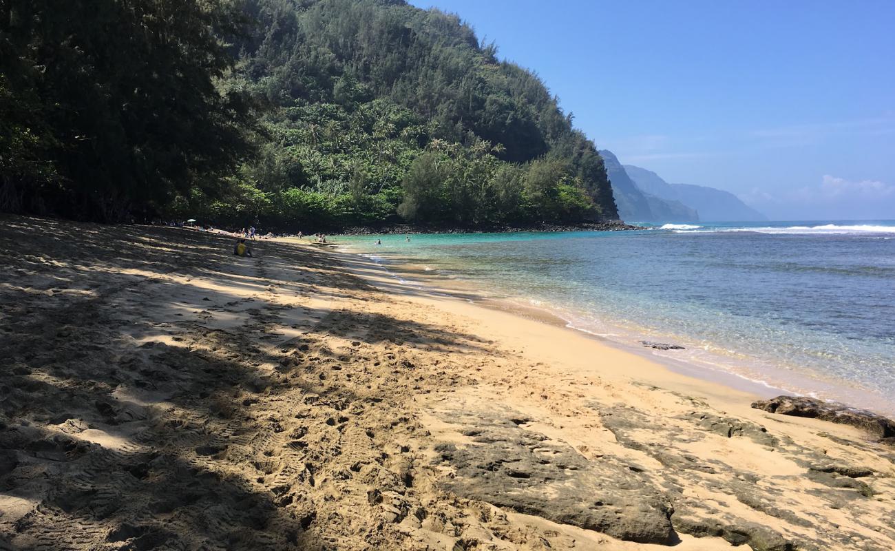
[[[895,548],[854,429],[307,243],[0,224],[0,548]]]

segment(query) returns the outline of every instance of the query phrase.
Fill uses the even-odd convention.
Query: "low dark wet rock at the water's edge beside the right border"
[[[752,407],[780,415],[816,418],[840,425],[855,426],[882,443],[895,445],[895,421],[865,409],[849,408],[836,402],[804,396],[778,396],[771,400],[758,400],[753,402]]]

